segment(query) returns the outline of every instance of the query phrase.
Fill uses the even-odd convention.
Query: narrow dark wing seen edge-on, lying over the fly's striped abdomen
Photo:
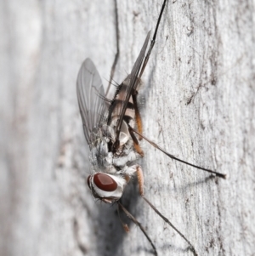
[[[116,127],[116,141],[118,141],[118,139],[119,139],[119,134],[120,134],[120,131],[122,128],[122,121],[123,121],[125,112],[127,110],[128,101],[130,99],[131,94],[133,93],[133,89],[136,89],[138,86],[138,83],[139,83],[139,81],[138,81],[139,71],[141,69],[141,65],[143,64],[143,60],[144,60],[144,56],[145,56],[145,52],[146,52],[146,48],[147,48],[149,39],[150,39],[150,31],[148,32],[147,37],[145,38],[144,45],[140,50],[139,56],[133,65],[133,69],[132,69],[130,75],[128,76],[129,83],[127,86],[127,94],[126,94],[125,100],[123,101],[123,104],[122,104],[122,107],[120,110],[119,122],[117,123],[117,127]]]

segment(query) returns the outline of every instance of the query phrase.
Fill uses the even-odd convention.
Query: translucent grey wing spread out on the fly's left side
[[[84,60],[77,77],[77,99],[88,145],[91,143],[93,128],[99,127],[107,110],[104,97],[105,90],[99,72],[92,60]]]

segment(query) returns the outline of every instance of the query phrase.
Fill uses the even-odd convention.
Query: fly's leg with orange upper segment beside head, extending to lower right
[[[144,201],[147,202],[150,205],[150,208],[152,208],[156,214],[158,214],[161,219],[163,219],[165,222],[167,222],[168,225],[170,225],[173,230],[175,230],[179,236],[182,236],[184,238],[184,240],[189,244],[190,246],[190,250],[194,253],[195,256],[198,256],[198,254],[195,251],[195,247],[191,244],[191,242],[169,221],[169,219],[167,219],[164,215],[162,215],[157,209],[156,207],[144,196],[144,174],[143,174],[143,170],[142,168],[140,168],[139,166],[136,168],[137,171],[137,178],[139,181],[139,193],[140,196],[143,197]]]

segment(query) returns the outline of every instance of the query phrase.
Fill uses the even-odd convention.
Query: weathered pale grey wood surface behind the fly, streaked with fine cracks
[[[0,254],[151,255],[116,206],[94,202],[86,179],[76,79],[94,60],[107,85],[116,54],[114,1],[1,2]],[[120,56],[131,71],[162,1],[118,1]],[[255,255],[255,3],[168,1],[141,90],[145,195],[199,255]],[[144,100],[143,100],[144,99]],[[126,205],[159,255],[193,255],[129,185]],[[123,217],[124,218],[124,217]]]

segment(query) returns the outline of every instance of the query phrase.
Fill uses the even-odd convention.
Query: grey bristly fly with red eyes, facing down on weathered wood
[[[133,69],[124,81],[116,88],[116,94],[112,100],[106,100],[105,90],[94,63],[90,59],[84,60],[77,77],[77,99],[82,117],[82,125],[85,138],[90,149],[90,162],[93,174],[88,176],[88,187],[94,198],[106,203],[116,202],[144,236],[150,242],[155,255],[156,247],[147,235],[144,227],[122,206],[120,199],[130,179],[136,175],[139,181],[139,194],[160,217],[167,222],[189,244],[194,255],[198,255],[191,242],[144,196],[144,174],[139,164],[135,163],[144,156],[139,145],[139,139],[144,139],[159,151],[170,158],[183,162],[194,168],[201,169],[225,179],[225,174],[219,174],[207,168],[201,168],[190,162],[185,162],[156,145],[143,135],[142,121],[137,104],[137,94],[144,69],[150,58],[150,53],[156,41],[158,26],[166,7],[167,0],[161,6],[161,12],[156,23],[156,29],[150,42],[148,32],[139,56],[133,65]],[[123,224],[125,230],[127,225]]]

